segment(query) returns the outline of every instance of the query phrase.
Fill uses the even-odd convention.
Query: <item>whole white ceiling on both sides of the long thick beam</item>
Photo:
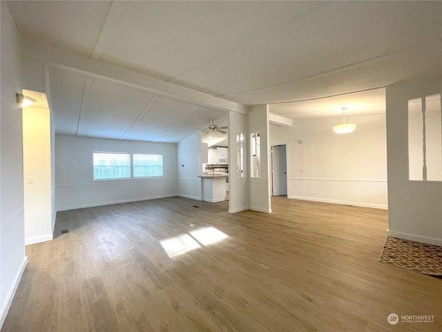
[[[442,75],[441,1],[9,6],[24,39],[239,104],[271,104],[287,118],[380,113],[385,86]],[[227,117],[68,68],[50,66],[49,76],[58,133],[178,142]]]

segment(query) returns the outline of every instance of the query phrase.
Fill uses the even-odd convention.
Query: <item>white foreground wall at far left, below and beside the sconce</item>
[[[0,103],[0,328],[26,266],[19,33],[8,3],[1,6]]]

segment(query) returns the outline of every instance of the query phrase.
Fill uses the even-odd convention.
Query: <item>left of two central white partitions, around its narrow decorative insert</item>
[[[244,177],[237,175],[236,135],[244,135]],[[250,206],[250,138],[249,117],[242,113],[229,111],[229,212],[248,210]]]

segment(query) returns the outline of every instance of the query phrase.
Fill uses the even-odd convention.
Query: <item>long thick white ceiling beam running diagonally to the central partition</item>
[[[246,105],[214,97],[213,95],[195,91],[177,84],[164,82],[157,78],[142,75],[112,64],[93,61],[92,59],[82,57],[67,50],[37,44],[25,38],[21,41],[21,47],[21,55],[23,57],[40,60],[48,66],[81,73],[125,86],[131,86],[135,89],[163,95],[164,97],[181,100],[183,102],[191,102],[200,106],[220,109],[222,111],[249,113],[249,107]]]

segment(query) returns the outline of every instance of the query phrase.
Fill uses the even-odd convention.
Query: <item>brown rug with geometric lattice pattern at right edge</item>
[[[440,246],[387,237],[379,261],[425,275],[442,275]]]

